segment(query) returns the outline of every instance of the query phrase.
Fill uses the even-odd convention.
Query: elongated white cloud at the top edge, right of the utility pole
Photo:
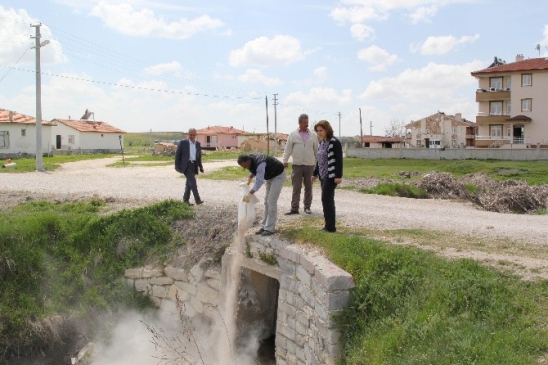
[[[101,18],[108,27],[123,34],[168,39],[186,39],[223,26],[222,21],[209,15],[168,22],[163,17],[156,16],[150,9],[136,10],[128,3],[110,4],[107,1],[100,1],[95,5],[91,15]]]

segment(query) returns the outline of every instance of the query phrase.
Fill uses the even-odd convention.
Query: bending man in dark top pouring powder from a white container
[[[278,159],[258,152],[253,152],[249,155],[240,155],[238,157],[238,165],[249,170],[248,184],[255,177],[255,184],[249,190],[249,194],[244,196],[244,202],[249,202],[251,195],[265,183],[265,214],[261,229],[256,234],[262,236],[273,235],[276,229],[276,221],[278,220],[278,198],[285,181],[284,165]]]

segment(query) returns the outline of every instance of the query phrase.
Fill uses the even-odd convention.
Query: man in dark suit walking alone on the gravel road
[[[196,204],[203,204],[204,201],[200,198],[198,193],[198,186],[196,185],[196,175],[198,175],[198,169],[200,172],[204,172],[202,166],[202,150],[200,148],[200,142],[196,141],[196,129],[190,128],[188,130],[188,139],[183,139],[177,146],[177,152],[175,152],[175,170],[184,174],[186,177],[185,193],[183,194],[183,201],[188,205],[190,202],[190,192],[194,195],[194,201]]]

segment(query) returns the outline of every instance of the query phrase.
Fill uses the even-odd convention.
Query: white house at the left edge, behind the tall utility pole
[[[42,154],[51,148],[54,123],[42,121]],[[0,109],[0,158],[36,156],[36,119]]]

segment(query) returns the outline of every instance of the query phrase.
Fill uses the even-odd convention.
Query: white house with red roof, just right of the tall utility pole
[[[56,150],[78,150],[83,153],[120,151],[124,132],[105,122],[73,119],[53,119],[55,129],[51,145]]]

